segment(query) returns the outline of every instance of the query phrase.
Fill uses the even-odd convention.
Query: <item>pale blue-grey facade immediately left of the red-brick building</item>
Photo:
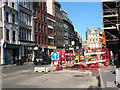
[[[25,58],[25,61],[33,59],[35,42],[33,39],[33,3],[21,1],[18,2],[18,28],[19,28],[19,59]]]

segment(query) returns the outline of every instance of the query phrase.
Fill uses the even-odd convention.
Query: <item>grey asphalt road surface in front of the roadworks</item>
[[[3,66],[2,88],[89,88],[98,84],[98,80],[90,71],[40,73],[33,72],[34,67],[33,63],[6,68]]]

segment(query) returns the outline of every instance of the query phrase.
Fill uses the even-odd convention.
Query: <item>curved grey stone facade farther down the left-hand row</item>
[[[71,42],[74,41],[74,26],[65,11],[62,11],[62,17],[64,30],[64,45],[71,46]]]

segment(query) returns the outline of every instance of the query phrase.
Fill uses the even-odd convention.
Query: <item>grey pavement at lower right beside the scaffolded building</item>
[[[115,66],[109,66],[106,68],[100,68],[99,69],[99,75],[100,75],[100,82],[101,82],[101,88],[105,90],[120,90],[115,85]]]

